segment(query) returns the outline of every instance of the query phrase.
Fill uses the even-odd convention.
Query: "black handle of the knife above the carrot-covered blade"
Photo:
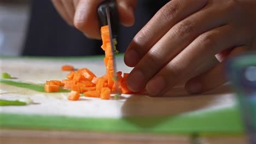
[[[97,12],[98,19],[100,20],[100,26],[102,27],[108,25],[106,7],[109,8],[113,38],[117,38],[119,29],[119,15],[117,3],[115,2],[115,0],[105,0],[98,6]]]

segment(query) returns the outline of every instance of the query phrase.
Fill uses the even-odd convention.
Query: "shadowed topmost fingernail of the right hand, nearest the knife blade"
[[[135,65],[139,62],[139,55],[135,50],[129,50],[124,56],[125,63],[129,67],[135,67]]]

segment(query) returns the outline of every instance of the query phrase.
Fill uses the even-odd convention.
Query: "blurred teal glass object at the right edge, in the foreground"
[[[226,74],[237,93],[250,142],[256,144],[256,53],[230,59]]]

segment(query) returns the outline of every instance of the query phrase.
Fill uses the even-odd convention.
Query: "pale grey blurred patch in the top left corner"
[[[30,1],[0,0],[0,53],[21,55],[29,20]]]

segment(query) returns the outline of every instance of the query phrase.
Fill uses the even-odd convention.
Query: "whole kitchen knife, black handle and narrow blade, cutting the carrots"
[[[117,52],[117,50],[115,49],[115,43],[114,43],[114,41],[117,41],[118,26],[119,26],[117,3],[115,2],[115,0],[103,1],[98,6],[97,12],[98,12],[98,18],[100,20],[101,27],[108,25],[108,28],[109,28],[110,45],[112,48],[113,65],[114,65],[114,83],[117,89],[117,93],[118,95],[120,95],[120,92],[118,89],[118,82],[117,82],[118,81],[117,66],[115,64],[115,52]]]

